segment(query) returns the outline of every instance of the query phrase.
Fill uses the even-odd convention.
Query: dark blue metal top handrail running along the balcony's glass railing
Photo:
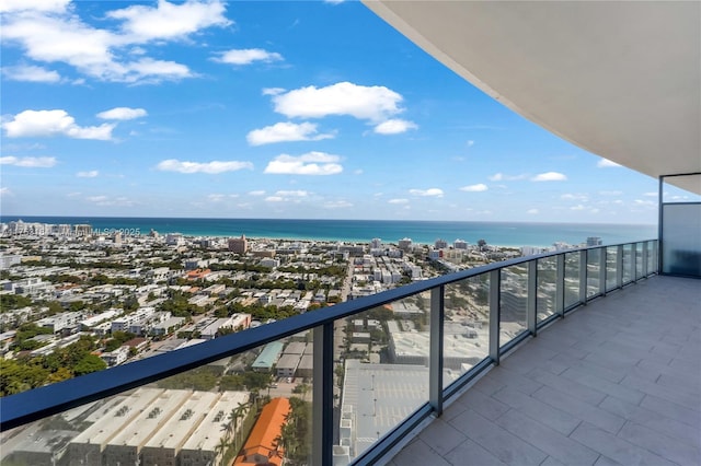
[[[635,243],[646,243],[648,241],[656,240]],[[623,244],[635,243],[567,249],[493,263],[417,281],[374,295],[288,317],[257,328],[216,338],[200,345],[2,397],[0,398],[0,431],[13,429],[90,401],[116,395],[127,389],[152,383],[311,328],[332,325],[337,319],[471,277],[576,252],[589,249],[602,249],[606,252],[607,247],[612,246],[618,246],[618,251],[620,252]],[[654,271],[650,272],[652,273]]]

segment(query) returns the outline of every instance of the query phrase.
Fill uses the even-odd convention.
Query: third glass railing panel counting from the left
[[[490,354],[490,275],[446,286],[444,386]]]

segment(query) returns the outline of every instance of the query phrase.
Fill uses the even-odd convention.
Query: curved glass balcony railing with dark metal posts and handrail
[[[0,399],[2,464],[372,464],[475,375],[657,272],[657,241],[495,263]]]

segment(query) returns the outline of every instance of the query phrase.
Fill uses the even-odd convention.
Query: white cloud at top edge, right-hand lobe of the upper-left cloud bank
[[[135,43],[153,39],[177,39],[210,26],[228,26],[221,1],[169,3],[160,0],[156,8],[131,5],[107,13],[108,18],[125,20],[123,32]]]

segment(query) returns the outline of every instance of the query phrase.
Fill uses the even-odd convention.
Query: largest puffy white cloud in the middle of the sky
[[[380,85],[365,86],[340,82],[326,88],[296,89],[273,96],[275,112],[289,118],[322,118],[349,115],[358,119],[381,123],[401,113],[402,96]]]

